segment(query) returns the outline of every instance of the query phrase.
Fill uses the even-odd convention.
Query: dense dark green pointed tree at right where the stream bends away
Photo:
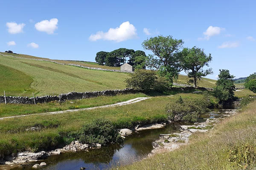
[[[213,90],[214,96],[218,98],[220,103],[229,102],[234,99],[236,87],[233,78],[234,76],[230,75],[229,70],[220,70],[216,87]]]

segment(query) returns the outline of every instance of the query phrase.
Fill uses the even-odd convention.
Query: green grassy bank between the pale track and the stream
[[[58,147],[67,142],[68,133],[75,132],[82,125],[98,118],[110,120],[116,128],[166,121],[166,104],[179,96],[194,99],[204,97],[202,94],[159,96],[115,108],[0,120],[0,154]],[[32,127],[37,130],[31,130]]]

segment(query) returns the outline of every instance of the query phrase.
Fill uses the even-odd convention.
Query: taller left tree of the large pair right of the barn
[[[160,75],[172,81],[183,70],[177,53],[183,45],[182,40],[173,39],[172,36],[151,37],[142,43],[144,49],[151,50],[161,62]]]

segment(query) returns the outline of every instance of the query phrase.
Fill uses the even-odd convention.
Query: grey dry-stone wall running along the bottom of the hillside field
[[[85,99],[98,96],[115,96],[118,94],[134,94],[141,91],[134,90],[132,88],[126,88],[123,90],[106,90],[106,91],[93,91],[93,92],[70,92],[67,94],[60,94],[59,96],[40,96],[35,97],[35,103],[44,103],[51,101],[73,100],[73,99]],[[0,96],[0,103],[5,103],[4,96]],[[21,97],[21,96],[6,96],[6,103],[17,103],[17,104],[34,104],[33,97]]]

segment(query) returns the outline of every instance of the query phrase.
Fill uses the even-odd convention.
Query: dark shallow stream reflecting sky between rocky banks
[[[227,116],[227,111],[235,109],[229,106],[222,109],[214,109],[201,115],[198,122],[204,122],[210,118],[223,118]],[[43,161],[31,163],[26,166],[15,167],[12,170],[33,170],[34,164],[46,162],[47,166],[41,170],[103,170],[110,169],[118,165],[131,164],[134,161],[140,161],[151,153],[152,142],[159,139],[160,134],[179,133],[180,125],[172,123],[161,129],[143,130],[126,136],[124,143],[120,146],[117,144],[108,145],[100,149],[88,151],[79,151],[76,153],[67,152],[61,155],[49,156]]]

